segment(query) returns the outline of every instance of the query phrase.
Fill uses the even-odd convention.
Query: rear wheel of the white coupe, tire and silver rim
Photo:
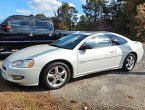
[[[126,71],[126,72],[131,71],[136,64],[136,60],[137,60],[137,58],[136,58],[135,54],[130,53],[129,55],[127,55],[124,60],[122,70]]]

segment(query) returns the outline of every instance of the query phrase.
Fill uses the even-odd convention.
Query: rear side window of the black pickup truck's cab
[[[35,20],[35,28],[36,29],[49,29],[49,25],[47,21]]]

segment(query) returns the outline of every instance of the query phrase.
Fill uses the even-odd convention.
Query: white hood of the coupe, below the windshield
[[[21,49],[13,54],[11,54],[7,59],[10,62],[22,59],[31,59],[43,55],[45,53],[52,53],[61,50],[61,48],[53,47],[49,45],[36,45],[28,48]]]

